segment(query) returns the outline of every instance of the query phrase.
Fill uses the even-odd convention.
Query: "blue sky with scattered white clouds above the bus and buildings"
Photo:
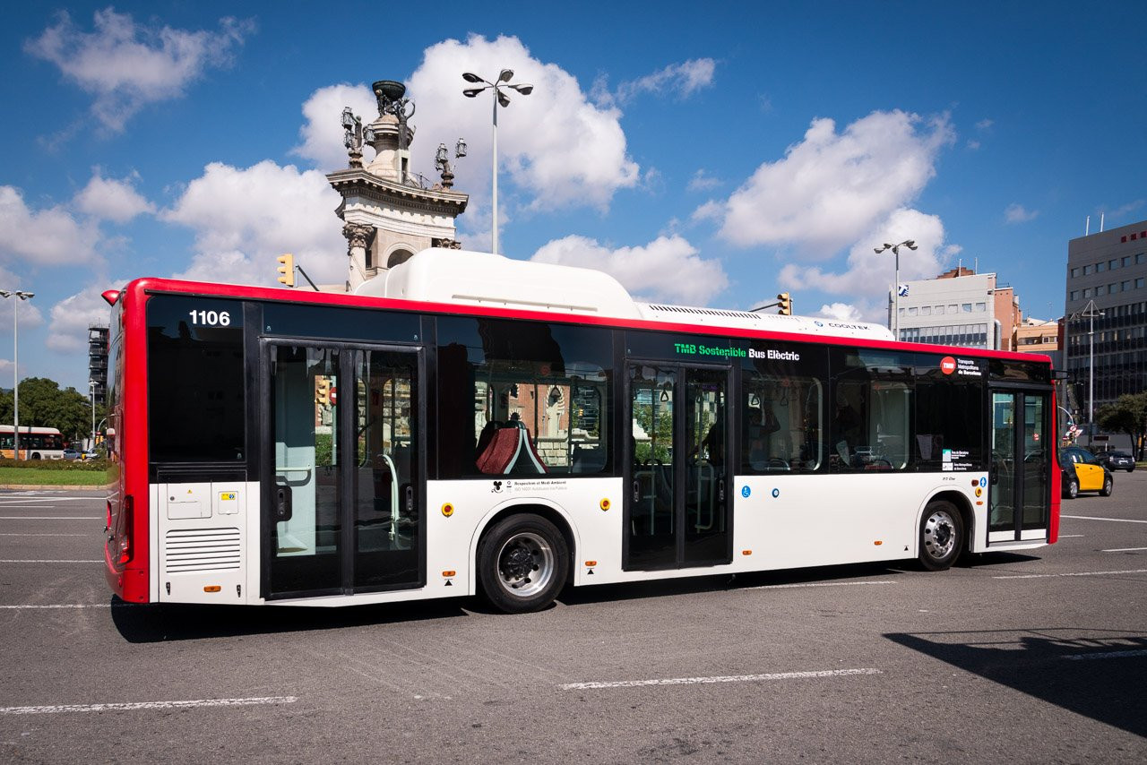
[[[393,16],[404,8],[411,15]],[[430,8],[430,14],[423,14]],[[375,79],[418,111],[415,171],[466,139],[468,249],[602,267],[634,295],[884,320],[902,280],[978,264],[1025,315],[1063,311],[1067,242],[1147,218],[1142,2],[8,3],[0,11],[0,288],[19,375],[86,390],[104,289],[345,276],[323,173]],[[369,151],[368,151],[369,158]],[[0,300],[0,385],[11,311]]]

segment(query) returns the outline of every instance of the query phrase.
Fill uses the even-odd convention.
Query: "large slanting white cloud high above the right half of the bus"
[[[741,245],[793,245],[826,259],[910,203],[936,173],[936,157],[954,140],[947,116],[927,124],[904,111],[875,111],[836,132],[814,119],[785,158],[762,164],[723,202],[695,219],[720,223],[720,236]]]

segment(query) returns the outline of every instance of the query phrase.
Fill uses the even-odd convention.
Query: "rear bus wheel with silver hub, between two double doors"
[[[478,542],[478,581],[507,614],[546,608],[565,584],[569,547],[553,523],[532,513],[502,518]]]

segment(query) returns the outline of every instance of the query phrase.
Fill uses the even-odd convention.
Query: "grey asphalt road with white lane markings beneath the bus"
[[[356,609],[109,598],[94,493],[0,493],[0,762],[1144,763],[1147,471],[1062,538]]]

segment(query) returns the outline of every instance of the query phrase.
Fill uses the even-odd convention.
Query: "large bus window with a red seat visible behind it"
[[[608,330],[438,321],[439,474],[611,470]]]

